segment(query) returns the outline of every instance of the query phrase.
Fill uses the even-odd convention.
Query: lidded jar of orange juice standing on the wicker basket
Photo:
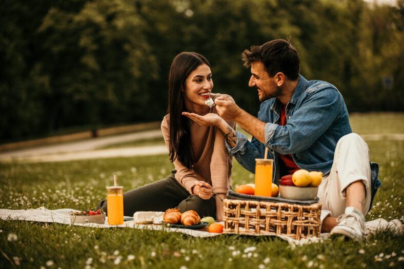
[[[255,195],[271,197],[272,167],[271,159],[255,159]]]

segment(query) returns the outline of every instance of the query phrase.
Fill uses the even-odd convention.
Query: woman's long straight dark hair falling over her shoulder
[[[188,169],[192,168],[195,160],[191,155],[193,148],[189,120],[181,115],[186,111],[182,90],[185,90],[185,82],[189,74],[203,64],[210,67],[209,61],[204,56],[195,52],[181,52],[173,59],[168,78],[167,112],[170,114],[170,161],[178,159]]]

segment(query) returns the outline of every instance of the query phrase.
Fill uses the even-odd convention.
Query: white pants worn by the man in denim
[[[322,177],[317,196],[321,207],[321,221],[327,216],[338,217],[345,213],[346,188],[355,181],[365,185],[363,215],[369,211],[371,200],[371,172],[368,144],[355,133],[342,136],[335,148],[330,173]]]

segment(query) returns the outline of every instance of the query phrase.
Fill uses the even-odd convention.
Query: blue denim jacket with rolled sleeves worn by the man
[[[348,110],[344,98],[331,84],[320,80],[306,80],[300,75],[299,82],[286,105],[286,126],[277,124],[281,102],[272,98],[262,102],[258,119],[267,122],[265,146],[270,149],[268,158],[274,159],[273,182],[286,174],[278,154],[291,154],[300,169],[330,172],[336,144],[342,136],[352,133]],[[255,137],[251,142],[247,136],[237,132],[237,143],[230,155],[248,171],[255,173],[255,159],[263,158],[265,146]],[[381,182],[377,178],[379,167],[371,162],[372,199]]]

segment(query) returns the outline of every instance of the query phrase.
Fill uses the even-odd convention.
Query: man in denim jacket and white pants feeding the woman
[[[275,183],[298,169],[323,173],[318,197],[321,231],[362,240],[365,215],[381,182],[378,165],[369,161],[365,141],[352,133],[348,111],[339,91],[299,74],[296,49],[277,39],[243,52],[251,66],[249,86],[258,91],[258,118],[226,99],[216,100],[217,115],[183,113],[200,125],[215,125],[226,136],[232,156],[250,172],[255,158],[274,159]],[[253,135],[250,141],[223,120],[234,120]],[[337,218],[338,217],[338,218]]]

